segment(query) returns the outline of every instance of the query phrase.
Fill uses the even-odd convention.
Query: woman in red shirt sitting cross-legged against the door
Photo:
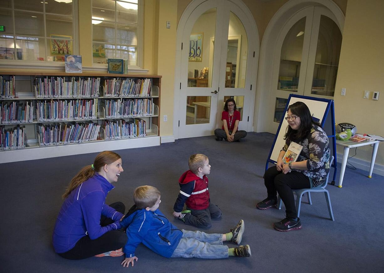
[[[228,142],[240,141],[241,138],[247,136],[244,130],[238,130],[240,122],[240,112],[236,110],[236,102],[230,98],[224,104],[224,111],[221,114],[223,126],[221,129],[215,130],[216,140],[225,139]]]

